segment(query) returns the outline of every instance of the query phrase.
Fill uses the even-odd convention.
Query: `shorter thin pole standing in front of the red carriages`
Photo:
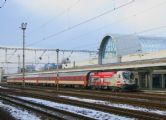
[[[57,72],[57,82],[56,82],[56,87],[57,87],[57,91],[58,91],[58,89],[59,89],[59,86],[58,86],[58,82],[59,82],[59,49],[56,49],[56,60],[57,60],[57,62],[56,62],[56,72]]]

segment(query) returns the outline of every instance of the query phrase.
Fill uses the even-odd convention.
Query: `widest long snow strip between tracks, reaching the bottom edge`
[[[52,102],[52,101],[47,101],[47,100],[42,100],[42,99],[37,99],[37,98],[30,98],[30,97],[21,97],[21,96],[17,96],[21,99],[24,100],[28,100],[28,101],[32,101],[35,103],[40,103],[49,107],[53,107],[53,108],[57,108],[57,109],[61,109],[61,110],[65,110],[65,111],[69,111],[72,113],[77,113],[80,115],[84,115],[87,117],[91,117],[97,120],[131,120],[131,118],[127,118],[127,117],[121,117],[118,115],[114,115],[114,114],[109,114],[106,112],[101,112],[101,111],[96,111],[96,110],[92,110],[92,109],[87,109],[87,108],[82,108],[82,107],[77,107],[77,106],[72,106],[72,105],[67,105],[67,104],[61,104],[61,103],[56,103],[56,102]]]

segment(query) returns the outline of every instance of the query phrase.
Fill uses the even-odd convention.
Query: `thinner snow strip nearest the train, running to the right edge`
[[[143,107],[136,107],[136,106],[132,106],[132,105],[128,105],[128,104],[116,104],[116,103],[111,103],[108,101],[83,99],[83,98],[63,96],[63,95],[59,95],[59,97],[71,99],[71,100],[88,102],[88,103],[102,104],[102,105],[108,105],[108,106],[113,106],[113,107],[118,107],[118,108],[125,108],[125,109],[130,109],[130,110],[139,110],[139,111],[145,111],[145,112],[150,112],[150,113],[157,113],[157,114],[161,114],[161,115],[166,115],[166,111],[147,109],[147,108],[143,108]]]

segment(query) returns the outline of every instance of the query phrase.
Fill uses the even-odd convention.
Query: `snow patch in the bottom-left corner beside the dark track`
[[[40,118],[37,117],[35,114],[30,113],[27,110],[23,110],[18,107],[16,108],[16,107],[4,104],[2,102],[0,102],[0,107],[10,112],[10,114],[18,120],[40,120]]]

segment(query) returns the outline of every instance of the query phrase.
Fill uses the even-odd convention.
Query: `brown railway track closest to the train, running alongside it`
[[[7,86],[8,87],[8,86]],[[14,87],[17,88],[20,86],[9,86],[9,87]],[[38,89],[38,90],[48,90],[51,92],[57,91],[56,88],[53,87],[40,87],[40,86],[35,86],[35,87],[27,87],[31,89]],[[108,90],[86,90],[86,89],[72,89],[72,88],[60,88],[59,91],[61,92],[78,92],[78,93],[89,93],[89,94],[95,94],[95,95],[107,95],[107,96],[118,96],[118,97],[127,97],[127,98],[138,98],[138,99],[146,99],[146,100],[157,100],[157,101],[166,101],[166,94],[154,94],[154,93],[143,93],[143,92],[111,92]]]

